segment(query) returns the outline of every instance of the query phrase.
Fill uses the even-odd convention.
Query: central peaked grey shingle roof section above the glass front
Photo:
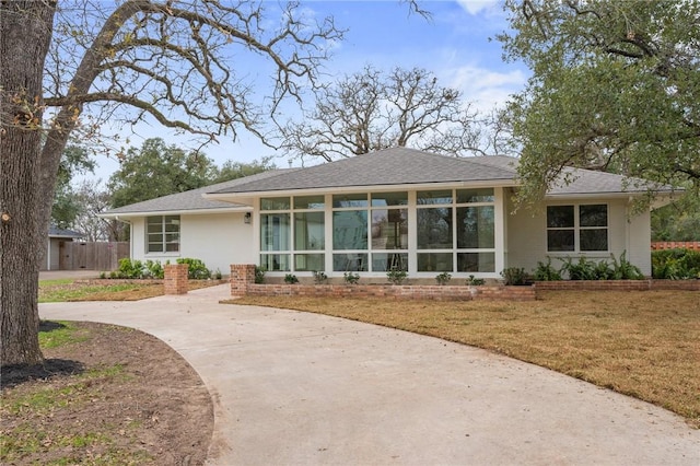
[[[209,194],[287,191],[351,186],[390,186],[423,183],[512,182],[508,166],[479,163],[480,158],[452,158],[393,148],[284,173],[262,180],[209,189]]]

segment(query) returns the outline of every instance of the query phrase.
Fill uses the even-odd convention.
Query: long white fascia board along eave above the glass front
[[[383,191],[409,191],[423,189],[440,188],[498,188],[518,186],[513,179],[488,179],[476,182],[443,182],[443,183],[417,183],[402,185],[364,185],[364,186],[341,186],[341,187],[324,187],[324,188],[305,188],[305,189],[285,189],[285,190],[267,190],[267,191],[245,191],[245,193],[207,193],[202,197],[205,199],[230,201],[238,198],[257,198],[257,197],[279,197],[279,196],[308,196],[322,194],[345,194],[345,193],[383,193]],[[241,202],[241,201],[238,201]]]

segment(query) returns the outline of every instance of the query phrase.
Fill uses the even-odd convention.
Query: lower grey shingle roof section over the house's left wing
[[[141,213],[141,212],[172,212],[172,211],[191,211],[191,210],[207,210],[207,209],[232,209],[232,208],[245,208],[245,206],[235,205],[231,202],[222,202],[219,200],[205,199],[202,195],[209,193],[211,189],[225,189],[234,187],[238,184],[253,183],[255,180],[261,180],[272,176],[277,176],[282,172],[290,172],[299,168],[284,168],[272,170],[269,172],[258,173],[256,175],[246,176],[244,178],[231,179],[229,182],[218,183],[215,185],[209,185],[197,189],[191,189],[185,193],[176,193],[168,196],[159,197],[155,199],[144,200],[142,202],[131,203],[129,206],[118,207],[116,209],[107,210],[103,212],[103,215],[118,215],[127,213]]]

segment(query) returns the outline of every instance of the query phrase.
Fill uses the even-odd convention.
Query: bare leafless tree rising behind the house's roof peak
[[[292,156],[326,161],[389,147],[411,147],[450,155],[483,153],[476,112],[459,91],[438,84],[424,69],[373,67],[317,92],[316,105],[282,128],[282,148]]]

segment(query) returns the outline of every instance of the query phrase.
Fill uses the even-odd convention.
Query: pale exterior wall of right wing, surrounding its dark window
[[[547,206],[573,203],[606,203],[608,206],[608,248],[607,253],[548,253],[547,252],[547,217],[546,210],[533,212],[518,209],[508,220],[508,267],[523,267],[530,272],[537,267],[537,261],[552,258],[552,265],[559,268],[559,258],[584,256],[591,260],[609,260],[610,254],[619,259],[627,252],[627,259],[638,266],[646,276],[651,276],[651,230],[650,213],[645,212],[628,221],[628,202],[626,199],[567,199],[550,200]],[[509,211],[514,205],[509,199]]]

